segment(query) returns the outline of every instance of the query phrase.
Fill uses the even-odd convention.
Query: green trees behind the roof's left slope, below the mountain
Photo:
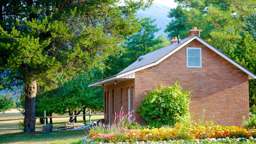
[[[140,30],[126,37],[126,42],[122,45],[122,50],[114,55],[109,55],[104,62],[104,77],[110,77],[125,69],[141,55],[145,55],[153,50],[169,45],[168,39],[161,35],[156,39],[155,33],[160,30],[154,25],[155,20],[142,18],[139,22]]]

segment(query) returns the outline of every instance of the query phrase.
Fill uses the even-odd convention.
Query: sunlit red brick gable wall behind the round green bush
[[[187,68],[187,47],[201,47],[201,68]],[[139,108],[145,92],[160,84],[172,86],[176,81],[184,91],[195,90],[189,105],[193,120],[201,118],[204,109],[205,119],[217,121],[219,125],[240,125],[243,116],[249,118],[248,75],[197,40],[158,65],[135,73],[134,109]],[[145,122],[138,113],[136,121]]]

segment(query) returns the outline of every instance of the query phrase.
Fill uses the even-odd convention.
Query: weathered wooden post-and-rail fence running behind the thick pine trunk
[[[44,117],[36,117],[37,118],[44,118],[44,125],[46,125],[46,118],[64,118],[64,117],[82,117],[82,116],[89,116],[89,122],[91,122],[91,116],[102,116],[104,114],[91,114],[91,109],[88,110],[89,114],[86,115],[74,115],[74,116],[52,116],[52,117],[48,117],[46,116],[46,111],[44,111]],[[86,111],[86,112],[88,112]],[[7,121],[7,120],[22,120],[24,118],[18,118],[18,119],[4,119],[4,120],[0,120],[0,121]],[[80,126],[86,126],[86,125],[69,125],[69,126],[59,126],[59,125],[53,125],[52,127],[80,127]],[[42,128],[43,126],[37,126],[36,128]],[[24,128],[6,128],[6,129],[0,129],[0,130],[12,130],[12,129],[24,129]]]

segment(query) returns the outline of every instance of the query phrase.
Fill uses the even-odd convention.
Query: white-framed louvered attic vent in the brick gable
[[[202,67],[201,48],[187,48],[187,67]]]

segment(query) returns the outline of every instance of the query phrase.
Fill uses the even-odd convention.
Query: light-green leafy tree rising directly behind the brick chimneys
[[[200,34],[207,42],[227,53],[230,47],[236,45],[240,39],[242,26],[251,12],[255,12],[256,2],[246,1],[193,1],[176,0],[178,6],[172,8],[168,17],[173,20],[169,23],[165,32],[168,37],[180,35],[180,38],[188,36],[186,31],[192,27],[203,29]]]

